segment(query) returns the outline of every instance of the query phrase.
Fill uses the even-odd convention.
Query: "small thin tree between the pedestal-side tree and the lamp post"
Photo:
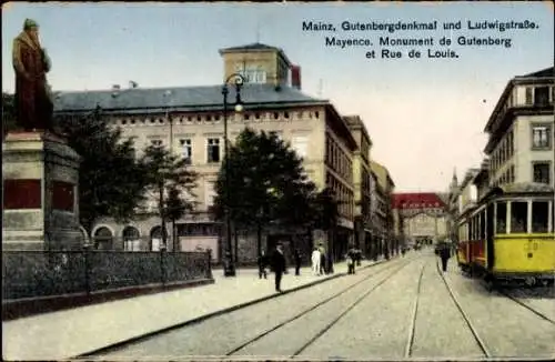
[[[158,203],[158,214],[162,228],[162,245],[167,245],[168,234],[165,221],[172,222],[175,231],[175,220],[183,217],[188,210],[193,210],[193,190],[196,187],[196,173],[188,169],[188,160],[172,154],[160,145],[149,145],[140,159],[147,170],[144,180],[147,189]],[[189,198],[188,198],[189,197]],[[176,251],[175,234],[173,250]]]

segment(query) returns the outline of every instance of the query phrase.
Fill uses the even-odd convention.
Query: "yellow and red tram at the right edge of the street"
[[[547,184],[492,189],[458,219],[460,268],[492,285],[553,284],[554,203]]]

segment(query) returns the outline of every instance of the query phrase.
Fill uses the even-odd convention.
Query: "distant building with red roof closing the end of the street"
[[[448,237],[447,205],[437,193],[394,193],[392,204],[404,242],[431,244]]]

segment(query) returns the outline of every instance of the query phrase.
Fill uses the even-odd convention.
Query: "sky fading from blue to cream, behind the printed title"
[[[13,92],[12,39],[26,18],[40,24],[52,59],[54,91],[127,87],[212,86],[223,81],[222,48],[262,42],[282,48],[302,72],[302,91],[359,114],[396,192],[447,190],[478,167],[485,123],[515,76],[553,67],[553,6],[548,2],[454,3],[8,3],[2,7],[2,91]],[[303,22],[335,31],[303,30]],[[350,23],[437,21],[436,30],[343,30]],[[461,23],[458,23],[461,21]],[[532,29],[468,29],[521,22]],[[446,30],[451,22],[455,29]],[[461,26],[461,27],[458,27]],[[460,28],[460,29],[457,29]],[[326,46],[366,39],[365,46]],[[384,46],[380,39],[433,38],[433,46]],[[511,39],[511,47],[462,46],[458,39]],[[451,46],[440,44],[442,38]],[[370,44],[369,44],[370,43]],[[421,58],[410,58],[411,50]],[[458,58],[428,58],[451,50]],[[382,58],[382,52],[402,58]],[[375,58],[367,58],[374,51]],[[370,54],[369,54],[370,56]]]

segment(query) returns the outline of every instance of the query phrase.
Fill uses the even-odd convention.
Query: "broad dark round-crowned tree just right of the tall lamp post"
[[[302,159],[287,143],[273,133],[248,128],[223,161],[213,210],[216,219],[223,220],[228,205],[235,225],[255,227],[260,253],[263,227],[271,222],[302,224],[314,189],[304,173]]]

